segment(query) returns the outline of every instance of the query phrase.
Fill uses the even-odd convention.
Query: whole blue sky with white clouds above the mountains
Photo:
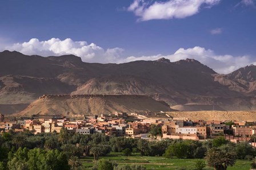
[[[28,55],[191,57],[221,73],[256,63],[255,0],[13,0],[0,2],[0,21],[0,49]]]

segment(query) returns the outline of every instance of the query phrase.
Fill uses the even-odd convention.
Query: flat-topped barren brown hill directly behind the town
[[[145,113],[167,111],[169,106],[147,96],[137,95],[46,95],[31,103],[19,116],[110,114],[115,111]]]

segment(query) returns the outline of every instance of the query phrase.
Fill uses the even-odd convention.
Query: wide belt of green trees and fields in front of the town
[[[70,133],[65,128],[59,134],[34,135],[28,131],[10,131],[0,135],[0,170],[104,167],[110,170],[241,170],[249,169],[250,165],[253,167],[255,160],[251,159],[255,156],[255,149],[248,143],[231,143],[223,136],[204,142],[170,139],[149,141],[103,134],[82,135]]]

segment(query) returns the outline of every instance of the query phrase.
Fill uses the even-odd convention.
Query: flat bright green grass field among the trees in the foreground
[[[125,164],[142,164],[147,169],[194,169],[194,163],[197,159],[166,159],[162,156],[122,156],[121,153],[111,153],[107,156],[100,156],[99,159],[108,159],[115,161],[118,165]],[[81,159],[81,162],[84,167],[91,168],[95,164],[93,157],[85,157]],[[239,169],[239,170],[248,170],[250,169],[251,161],[248,160],[237,160],[236,164],[233,167],[227,169]],[[213,169],[206,167],[205,169]]]

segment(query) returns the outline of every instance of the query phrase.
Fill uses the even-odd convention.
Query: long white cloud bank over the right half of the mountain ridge
[[[135,60],[157,60],[161,57],[165,57],[170,61],[178,61],[183,59],[195,59],[202,64],[214,69],[217,73],[230,73],[246,65],[256,64],[250,56],[232,56],[232,55],[217,55],[211,49],[205,49],[202,47],[194,48],[179,48],[173,55],[154,55],[154,56],[141,56],[141,57],[127,57],[119,61],[120,63],[135,61]]]

